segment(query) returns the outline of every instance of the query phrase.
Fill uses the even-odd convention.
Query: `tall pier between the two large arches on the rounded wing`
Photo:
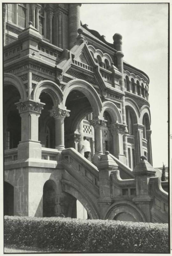
[[[134,124],[134,135],[135,135],[135,153],[136,153],[136,163],[140,161],[140,156],[143,155],[143,145],[142,145],[142,138],[143,138],[143,129],[144,125],[142,124]]]

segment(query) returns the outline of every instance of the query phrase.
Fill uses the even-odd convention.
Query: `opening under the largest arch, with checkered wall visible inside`
[[[89,120],[92,119],[91,113],[93,112],[91,104],[81,91],[73,90],[67,96],[66,108],[70,110],[70,116],[64,120],[65,148],[74,147],[76,150],[81,149],[83,137],[85,136],[90,142],[91,153],[89,160],[91,161],[91,156],[94,154],[94,128],[89,123]],[[88,113],[90,114],[88,115]],[[79,127],[79,124],[82,127]],[[76,127],[80,129],[77,130]],[[75,132],[80,133],[79,141],[74,136]]]

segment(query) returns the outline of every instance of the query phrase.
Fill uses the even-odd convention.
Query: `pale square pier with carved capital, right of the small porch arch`
[[[125,125],[123,124],[111,124],[110,132],[113,137],[113,153],[121,162],[126,164],[126,158],[123,147],[123,136],[125,135]]]

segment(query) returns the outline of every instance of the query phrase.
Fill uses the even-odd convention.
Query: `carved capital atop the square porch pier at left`
[[[25,102],[18,102],[15,103],[17,105],[17,109],[19,113],[24,113],[27,111],[35,112],[37,114],[41,113],[41,110],[43,109],[44,103],[40,102],[34,102],[34,101],[25,101]]]

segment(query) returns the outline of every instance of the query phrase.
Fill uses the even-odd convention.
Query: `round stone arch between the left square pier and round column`
[[[42,92],[46,92],[52,98],[54,106],[61,105],[63,101],[63,92],[61,88],[50,80],[39,82],[33,90],[33,100],[40,102],[39,96]]]

